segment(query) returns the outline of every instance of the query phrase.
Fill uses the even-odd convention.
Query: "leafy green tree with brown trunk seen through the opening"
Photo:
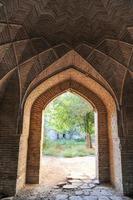
[[[82,97],[66,92],[55,98],[45,109],[45,123],[59,134],[80,130],[81,134],[86,134],[87,146],[92,147],[94,112]]]

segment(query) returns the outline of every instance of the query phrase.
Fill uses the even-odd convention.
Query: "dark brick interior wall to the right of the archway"
[[[123,190],[133,196],[133,77],[127,73],[123,91],[122,170]]]

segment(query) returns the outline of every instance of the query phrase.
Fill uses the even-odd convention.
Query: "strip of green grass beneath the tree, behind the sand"
[[[85,141],[75,140],[46,140],[43,145],[43,154],[48,156],[77,157],[95,155],[95,150],[88,149]]]

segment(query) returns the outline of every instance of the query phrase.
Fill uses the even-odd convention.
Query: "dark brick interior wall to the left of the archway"
[[[15,193],[16,188],[19,96],[18,73],[15,70],[7,80],[0,101],[0,192],[10,195]]]

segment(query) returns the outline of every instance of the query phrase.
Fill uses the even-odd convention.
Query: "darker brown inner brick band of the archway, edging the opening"
[[[109,169],[109,142],[108,142],[108,126],[107,126],[107,110],[103,102],[93,92],[84,86],[72,80],[61,82],[58,85],[44,92],[34,102],[31,109],[29,143],[28,143],[28,159],[27,159],[27,183],[39,183],[40,181],[40,160],[41,160],[41,126],[42,111],[46,105],[57,95],[67,91],[74,90],[86,100],[95,105],[98,112],[98,178],[101,182],[110,181]],[[104,154],[103,154],[104,152]]]

